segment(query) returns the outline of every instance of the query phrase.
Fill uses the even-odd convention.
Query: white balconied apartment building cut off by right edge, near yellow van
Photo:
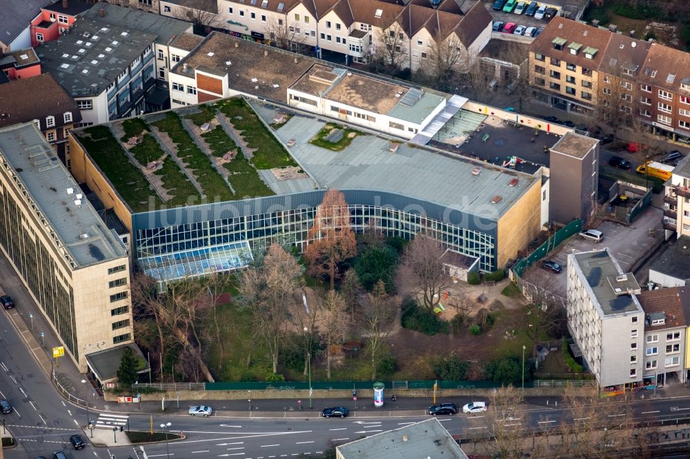
[[[666,238],[690,236],[690,156],[673,169],[664,187],[664,232]]]

